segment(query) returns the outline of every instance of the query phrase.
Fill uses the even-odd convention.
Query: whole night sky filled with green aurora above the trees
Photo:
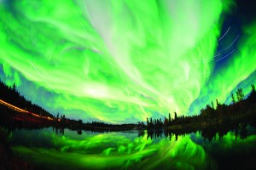
[[[0,77],[56,115],[198,114],[256,83],[256,20],[230,0],[0,0]]]

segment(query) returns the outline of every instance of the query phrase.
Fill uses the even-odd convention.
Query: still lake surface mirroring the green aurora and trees
[[[35,169],[247,169],[255,167],[256,131],[230,131],[211,141],[200,132],[148,138],[147,131],[92,133],[52,127],[15,130],[9,145]]]

